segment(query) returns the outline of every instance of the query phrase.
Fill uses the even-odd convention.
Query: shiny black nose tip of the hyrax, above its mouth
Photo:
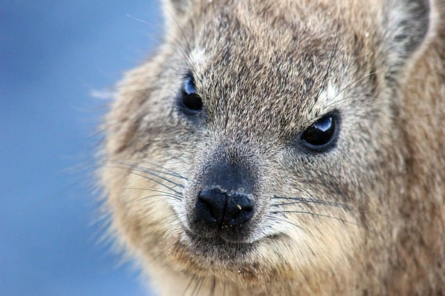
[[[198,220],[217,227],[235,227],[248,222],[254,214],[254,203],[248,195],[218,188],[200,191],[196,201]]]

